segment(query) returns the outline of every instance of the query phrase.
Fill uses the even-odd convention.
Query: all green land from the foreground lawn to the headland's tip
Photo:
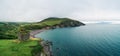
[[[38,44],[38,40],[29,40],[31,30],[81,25],[85,24],[69,18],[56,17],[50,17],[35,23],[0,22],[0,56],[35,56],[41,53],[42,46]],[[19,39],[19,41],[14,39]]]

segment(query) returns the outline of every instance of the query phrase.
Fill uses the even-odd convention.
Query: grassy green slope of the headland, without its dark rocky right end
[[[64,20],[65,19],[47,18],[46,20],[43,20],[41,22],[35,22],[35,23],[30,23],[30,24],[23,24],[22,27],[27,29],[27,30],[35,30],[35,29],[44,28],[45,26],[53,26],[53,25],[56,25],[56,24],[60,24]]]

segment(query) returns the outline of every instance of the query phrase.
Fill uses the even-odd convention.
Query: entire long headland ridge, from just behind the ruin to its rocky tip
[[[82,25],[85,25],[85,24],[69,18],[50,17],[40,22],[22,25],[22,27],[29,30],[34,30],[34,29],[42,29],[46,27],[54,29],[54,28],[64,28],[64,27],[77,27]]]

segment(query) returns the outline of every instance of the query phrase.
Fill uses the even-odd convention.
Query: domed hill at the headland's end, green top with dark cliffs
[[[76,27],[76,26],[85,25],[82,22],[72,20],[69,18],[56,18],[56,17],[50,17],[50,18],[44,19],[38,23],[42,23],[42,24],[46,25],[47,27],[49,26],[52,28]]]

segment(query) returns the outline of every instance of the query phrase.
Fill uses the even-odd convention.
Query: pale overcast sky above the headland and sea
[[[120,21],[120,0],[0,0],[0,21],[38,22],[48,17]]]

